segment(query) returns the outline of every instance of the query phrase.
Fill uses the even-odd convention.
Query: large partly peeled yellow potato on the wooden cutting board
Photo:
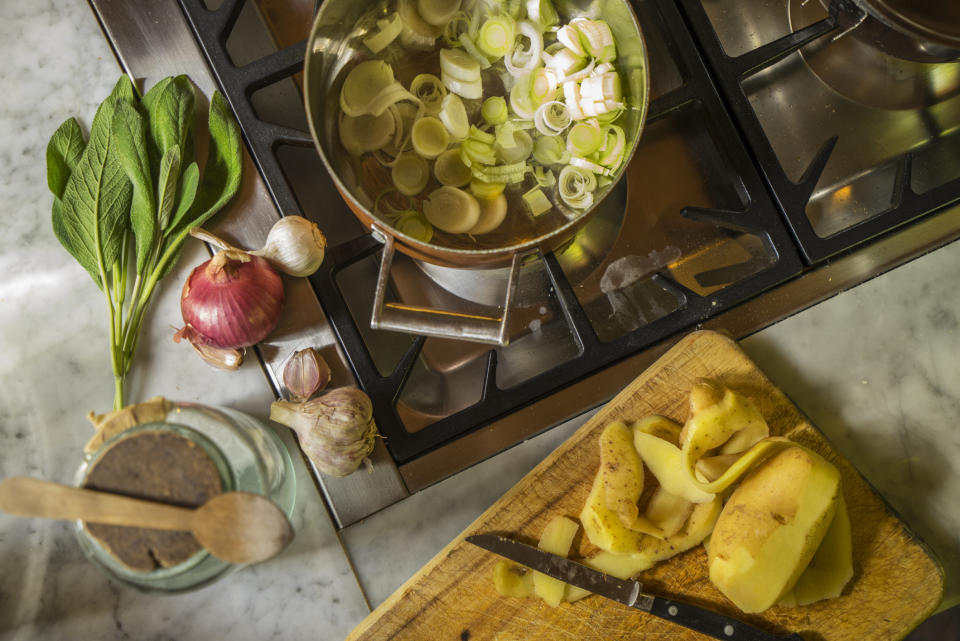
[[[762,612],[793,589],[823,540],[840,497],[840,473],[789,447],[741,482],[717,519],[710,580],[744,612]]]

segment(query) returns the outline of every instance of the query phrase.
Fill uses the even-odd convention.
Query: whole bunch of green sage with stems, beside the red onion
[[[53,232],[104,293],[110,318],[114,409],[157,283],[190,229],[219,211],[240,186],[240,129],[226,100],[210,100],[203,175],[194,151],[197,94],[186,76],[140,96],[127,76],[99,106],[89,140],[74,118],[47,145]]]

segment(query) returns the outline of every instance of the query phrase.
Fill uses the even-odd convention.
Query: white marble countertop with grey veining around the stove
[[[113,384],[103,299],[51,231],[44,154],[66,118],[89,125],[119,68],[83,0],[0,3],[0,56],[0,477],[69,482],[90,435],[85,416],[109,407]],[[155,297],[129,397],[163,394],[262,418],[272,398],[255,362],[212,373],[171,342],[179,284],[203,252],[191,241]],[[954,243],[743,343],[939,552],[949,604],[960,596],[958,273]],[[295,456],[294,544],[181,596],[108,580],[69,524],[0,514],[0,638],[342,638],[368,611],[364,592],[373,605],[386,598],[583,420],[339,533]]]

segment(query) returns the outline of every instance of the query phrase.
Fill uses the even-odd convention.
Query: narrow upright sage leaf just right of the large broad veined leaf
[[[157,234],[153,180],[147,157],[147,120],[136,107],[124,100],[115,100],[111,134],[113,153],[133,186],[130,228],[136,239],[137,273],[142,274]]]

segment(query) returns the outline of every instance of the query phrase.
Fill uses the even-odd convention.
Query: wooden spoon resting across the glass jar
[[[210,554],[229,563],[265,561],[293,540],[286,514],[270,499],[250,492],[226,492],[188,508],[15,476],[0,482],[0,510],[191,532]]]

